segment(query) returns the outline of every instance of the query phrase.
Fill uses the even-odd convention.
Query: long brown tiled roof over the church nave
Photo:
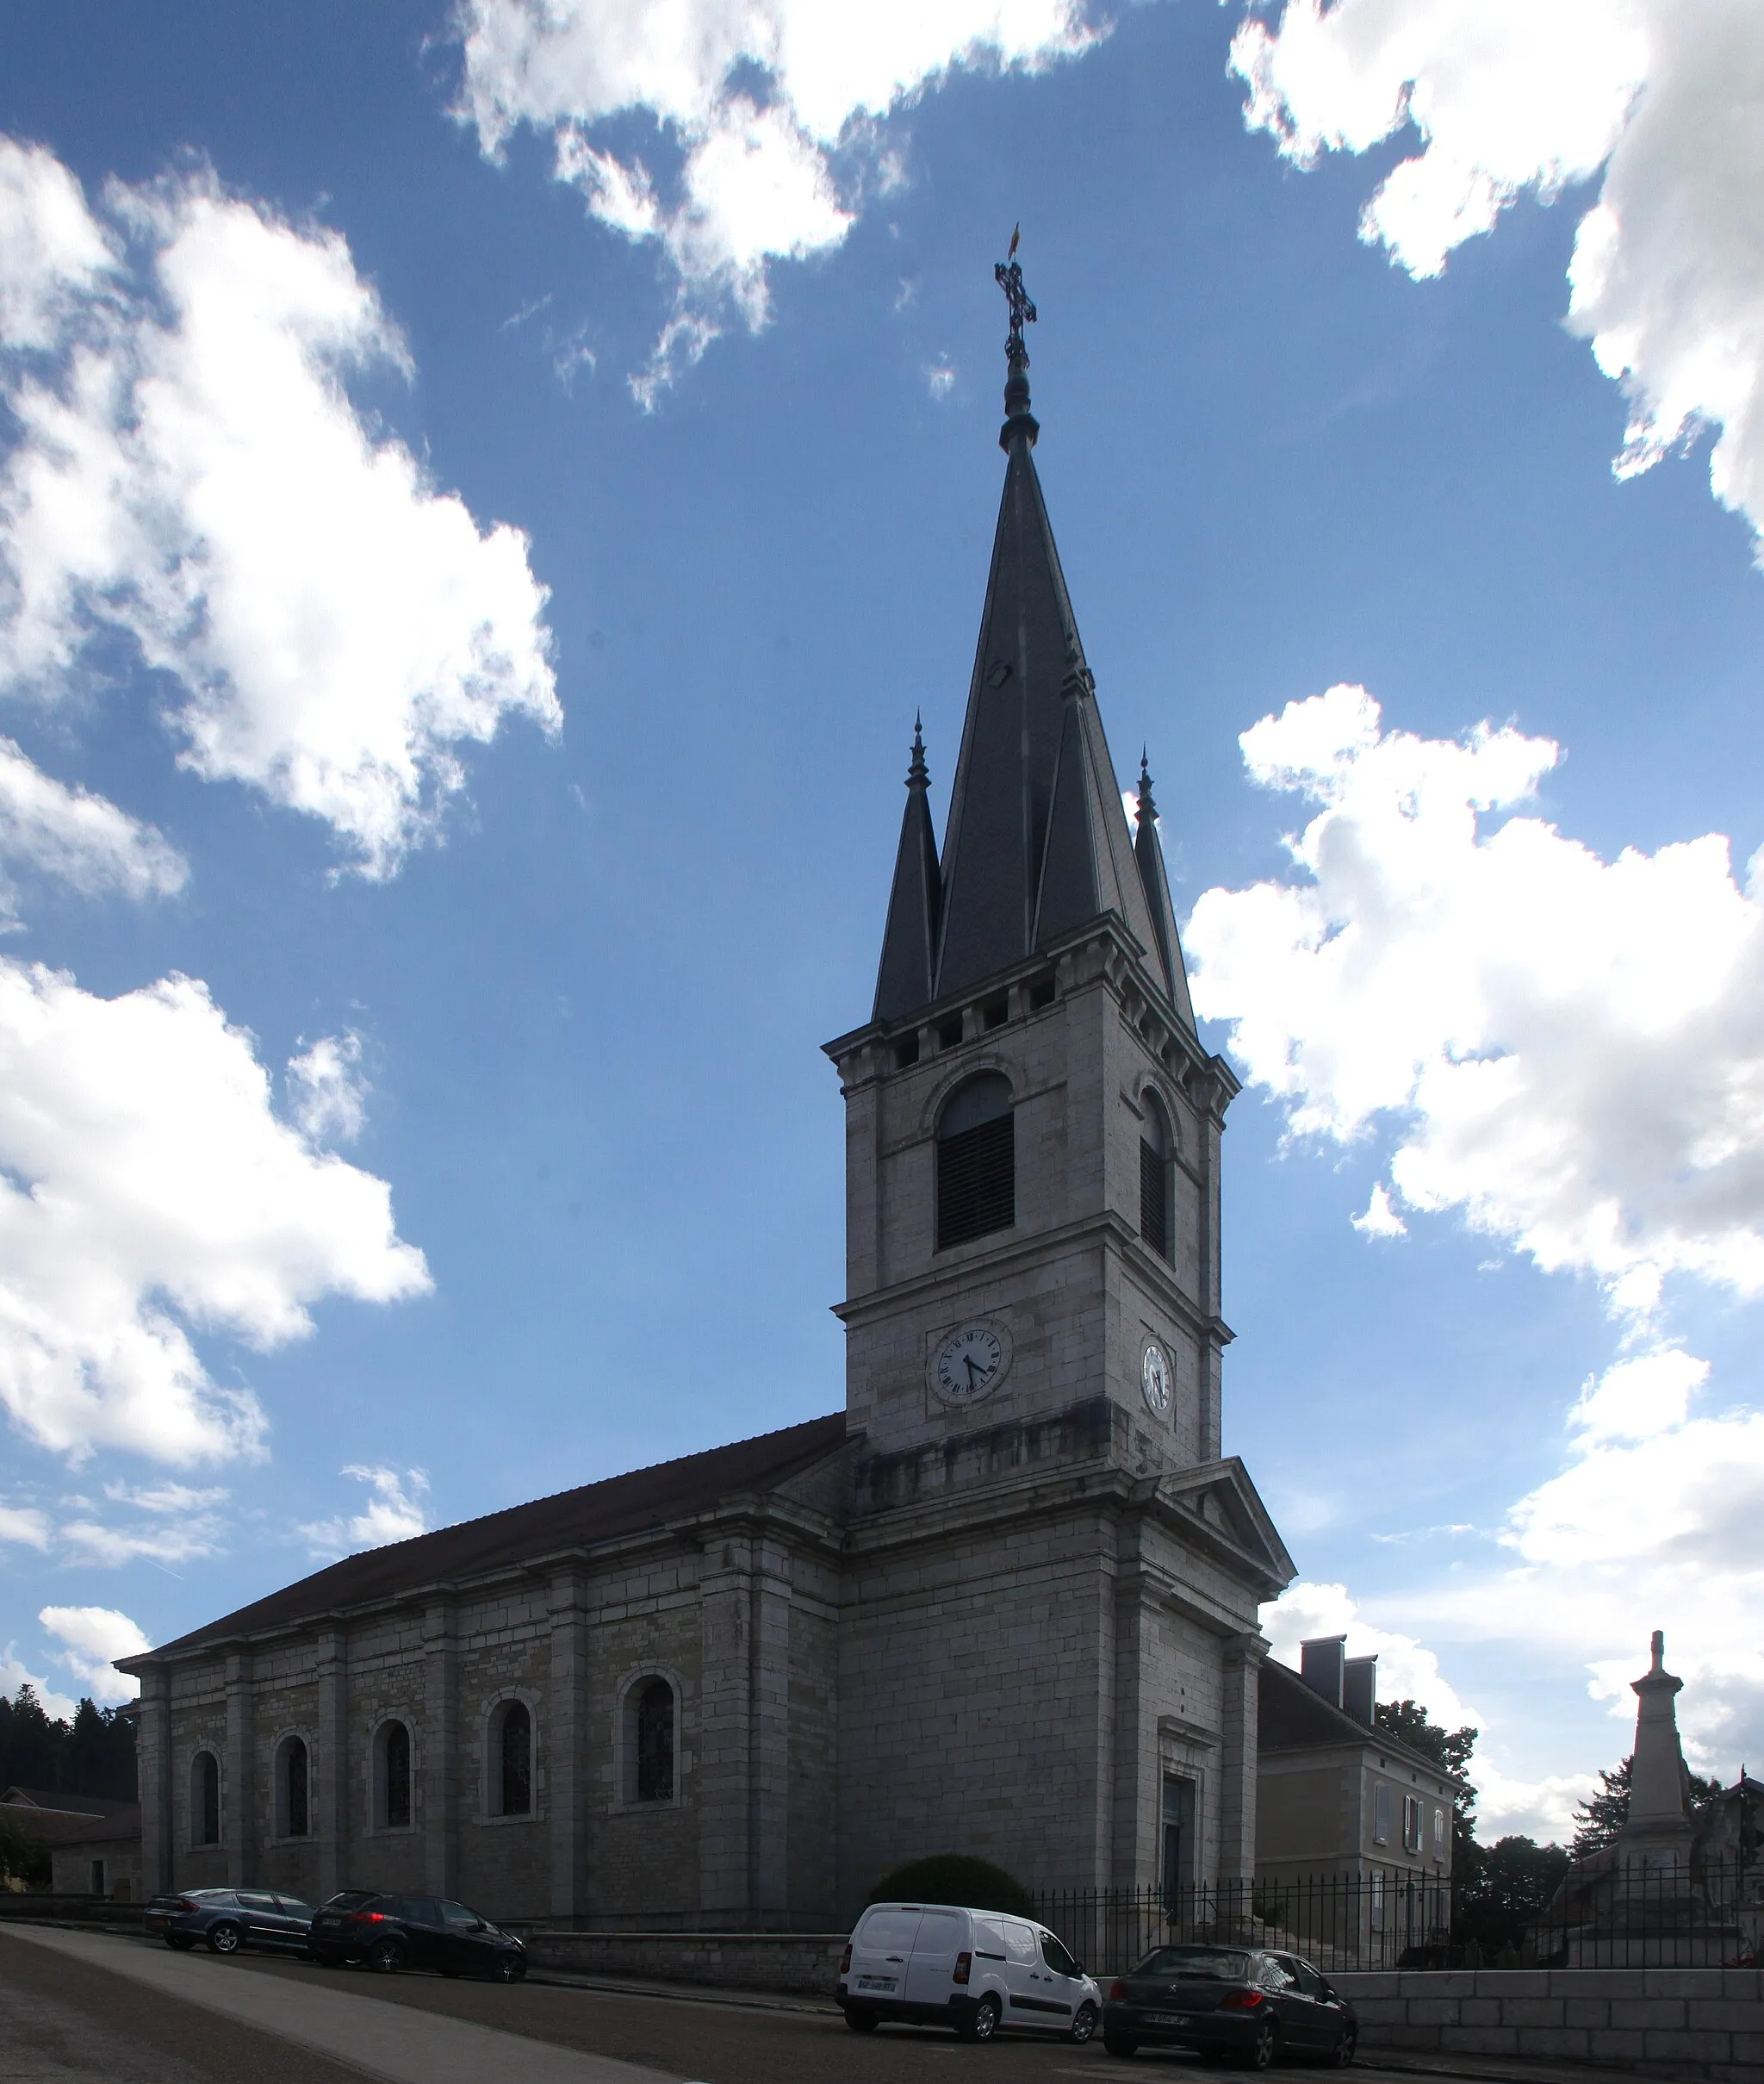
[[[477,1578],[533,1557],[664,1528],[669,1521],[710,1511],[723,1498],[773,1490],[843,1442],[846,1413],[833,1411],[825,1419],[785,1425],[783,1432],[760,1434],[756,1440],[714,1446],[704,1455],[683,1455],[679,1461],[656,1463],[654,1469],[608,1475],[600,1484],[560,1490],[531,1505],[510,1505],[506,1511],[464,1519],[456,1528],[435,1528],[433,1534],[419,1534],[408,1542],[367,1548],[158,1651],[125,1657],[121,1669],[140,1671],[158,1657],[196,1651],[225,1636],[287,1628],[308,1615],[394,1598],[423,1584]]]

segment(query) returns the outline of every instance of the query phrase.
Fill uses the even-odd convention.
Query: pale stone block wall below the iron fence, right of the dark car
[[[1641,2076],[1764,2080],[1754,1967],[1410,1969],[1331,1978],[1366,2049],[1604,2063]]]

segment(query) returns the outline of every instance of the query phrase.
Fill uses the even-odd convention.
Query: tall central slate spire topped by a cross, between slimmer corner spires
[[[1010,302],[1000,433],[1008,461],[943,836],[933,996],[962,992],[1112,911],[1143,946],[1154,982],[1187,1009],[1187,988],[1168,982],[1156,913],[1133,861],[1095,681],[1031,456],[1039,427],[1029,411],[1023,325],[1035,321],[1035,306],[1016,260],[996,273]]]

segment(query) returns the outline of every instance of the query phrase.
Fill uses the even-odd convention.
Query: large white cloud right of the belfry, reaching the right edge
[[[1314,809],[1295,877],[1208,890],[1183,940],[1195,1007],[1293,1132],[1387,1132],[1404,1209],[1591,1273],[1616,1311],[1674,1273],[1764,1290],[1758,865],[1741,888],[1714,834],[1602,861],[1537,817],[1491,821],[1558,748],[1385,731],[1364,688],[1241,746]]]

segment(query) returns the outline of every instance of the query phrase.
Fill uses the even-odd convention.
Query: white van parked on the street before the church
[[[954,2026],[962,2040],[1027,2026],[1085,2042],[1102,2017],[1102,1994],[1083,1961],[1027,1917],[950,1903],[873,1903],[839,1963],[839,2009],[854,2034],[908,2019]]]

